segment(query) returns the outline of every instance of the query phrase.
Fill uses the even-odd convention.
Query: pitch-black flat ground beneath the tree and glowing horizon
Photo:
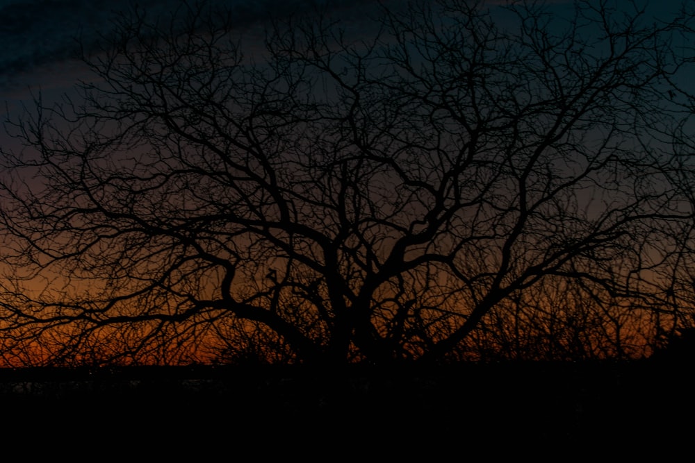
[[[647,360],[0,370],[1,437],[72,461],[662,460],[695,444],[690,373]]]

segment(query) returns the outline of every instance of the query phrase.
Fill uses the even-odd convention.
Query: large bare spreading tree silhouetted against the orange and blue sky
[[[521,308],[617,344],[672,321],[693,15],[631,8],[317,13],[262,49],[205,4],[123,15],[79,96],[6,124],[6,361],[426,362]]]

